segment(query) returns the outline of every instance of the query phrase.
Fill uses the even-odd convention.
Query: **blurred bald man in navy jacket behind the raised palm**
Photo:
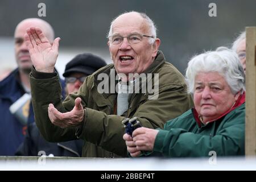
[[[53,28],[42,19],[24,19],[15,28],[14,49],[18,68],[0,82],[0,155],[14,155],[19,144],[23,142],[27,124],[34,122],[28,80],[32,61],[24,41],[26,29],[31,26],[40,27],[49,43],[53,43],[54,40]],[[61,81],[61,84],[63,85],[64,81]],[[22,98],[25,98],[24,105],[19,104]]]

